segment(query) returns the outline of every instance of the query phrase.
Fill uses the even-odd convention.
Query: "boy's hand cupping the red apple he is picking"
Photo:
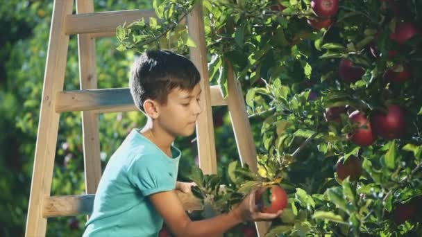
[[[278,213],[262,213],[260,207],[255,204],[255,193],[258,189],[255,189],[249,193],[246,198],[237,206],[233,211],[240,221],[261,221],[261,220],[272,220],[277,218],[282,213],[282,210]]]

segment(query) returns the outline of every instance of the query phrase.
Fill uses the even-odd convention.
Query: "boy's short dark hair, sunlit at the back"
[[[130,94],[138,109],[144,112],[146,99],[167,103],[171,89],[191,91],[201,80],[198,69],[189,59],[171,51],[146,51],[130,70]]]

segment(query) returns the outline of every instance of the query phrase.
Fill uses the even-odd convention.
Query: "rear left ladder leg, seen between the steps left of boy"
[[[76,12],[94,12],[93,0],[76,1]],[[81,89],[96,89],[95,39],[78,35],[79,81]],[[101,179],[99,116],[91,111],[82,112],[83,161],[85,165],[85,191],[95,193]]]

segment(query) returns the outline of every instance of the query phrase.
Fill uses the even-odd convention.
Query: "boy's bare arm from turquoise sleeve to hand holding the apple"
[[[254,197],[255,195],[250,196]],[[267,214],[253,211],[251,209],[251,204],[255,202],[255,198],[249,198],[246,202],[242,202],[242,204],[239,205],[239,208],[236,208],[229,213],[207,220],[192,222],[183,209],[183,205],[175,191],[154,193],[150,195],[149,198],[155,209],[167,223],[167,226],[170,227],[171,231],[173,231],[176,236],[219,236],[235,225],[248,219],[271,220],[280,215],[280,213]]]

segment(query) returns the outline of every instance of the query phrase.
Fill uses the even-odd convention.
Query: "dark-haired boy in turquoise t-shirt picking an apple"
[[[194,64],[170,51],[147,51],[133,64],[130,93],[147,122],[108,161],[83,236],[158,236],[163,219],[176,236],[219,236],[241,222],[280,215],[256,211],[251,193],[229,213],[194,222],[187,216],[174,191],[181,154],[172,143],[195,131],[199,80]]]

